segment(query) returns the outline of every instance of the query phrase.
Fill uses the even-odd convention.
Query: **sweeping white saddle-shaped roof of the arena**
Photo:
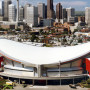
[[[90,53],[90,42],[68,47],[36,47],[0,39],[0,53],[19,62],[52,64],[73,60]]]

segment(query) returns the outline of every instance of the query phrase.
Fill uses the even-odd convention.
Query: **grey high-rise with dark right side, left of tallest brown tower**
[[[40,18],[45,18],[45,4],[39,3],[38,4],[38,15]]]

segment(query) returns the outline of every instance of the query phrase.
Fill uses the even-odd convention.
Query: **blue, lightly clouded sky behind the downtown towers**
[[[16,4],[16,0],[12,0]],[[19,0],[20,5],[30,3],[37,6],[38,3],[43,2],[47,5],[47,0]],[[90,7],[90,0],[53,0],[54,7],[57,3],[61,3],[64,8],[73,7],[76,11],[84,11],[85,7]]]

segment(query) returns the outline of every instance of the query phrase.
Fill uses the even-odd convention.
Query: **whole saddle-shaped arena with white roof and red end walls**
[[[0,39],[2,76],[60,79],[90,74],[90,43],[68,47],[37,47]]]

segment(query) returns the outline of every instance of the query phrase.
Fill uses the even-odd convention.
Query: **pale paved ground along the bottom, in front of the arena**
[[[72,89],[67,85],[67,86],[33,86],[33,87],[28,86],[26,88],[23,88],[22,86],[17,86],[14,88],[14,90],[75,90],[75,89]],[[76,90],[90,90],[90,89],[77,87]]]

